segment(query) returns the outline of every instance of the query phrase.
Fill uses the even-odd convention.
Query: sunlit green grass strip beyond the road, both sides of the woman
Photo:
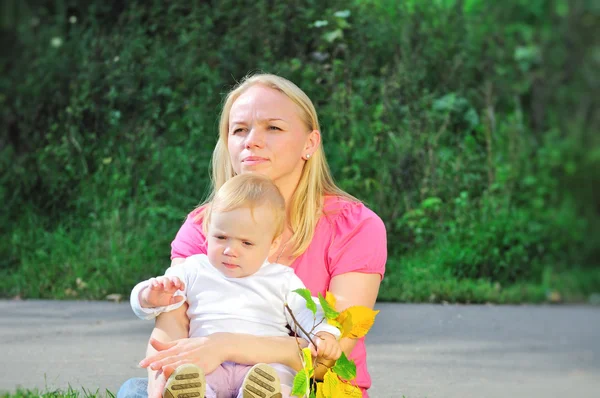
[[[138,211],[134,205],[89,220],[63,220],[54,229],[24,216],[0,242],[0,297],[102,300],[112,293],[128,295],[139,280],[167,268],[169,245],[182,221],[180,211]],[[600,293],[598,268],[557,271],[548,266],[537,283],[501,286],[456,278],[439,264],[443,254],[435,247],[405,256],[390,253],[379,300],[587,302]]]

